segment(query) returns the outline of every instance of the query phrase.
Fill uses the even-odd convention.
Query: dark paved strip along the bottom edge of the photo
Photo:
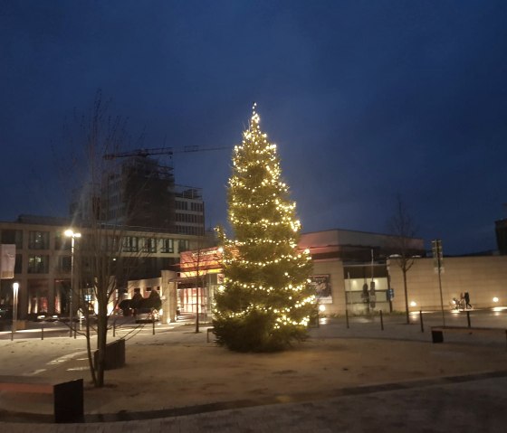
[[[507,378],[342,395],[326,400],[195,415],[84,424],[0,424],[13,433],[88,432],[504,432]]]

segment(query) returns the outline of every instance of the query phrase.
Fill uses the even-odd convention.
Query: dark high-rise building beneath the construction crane
[[[118,159],[110,156],[100,184],[85,184],[74,193],[73,221],[204,236],[205,203],[200,188],[176,184],[173,167],[149,154],[119,155]]]

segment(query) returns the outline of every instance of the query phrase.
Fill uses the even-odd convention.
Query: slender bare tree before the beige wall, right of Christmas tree
[[[403,274],[403,289],[405,293],[405,312],[407,315],[407,324],[410,323],[408,310],[408,291],[407,291],[407,273],[414,265],[414,249],[413,240],[416,236],[416,226],[407,206],[401,195],[397,195],[396,212],[388,221],[389,230],[393,235],[390,249],[393,251],[391,259],[401,269]]]

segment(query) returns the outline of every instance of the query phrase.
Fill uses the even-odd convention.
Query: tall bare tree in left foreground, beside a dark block
[[[111,117],[109,110],[109,102],[104,102],[100,91],[97,92],[91,113],[74,118],[79,124],[79,132],[70,137],[74,148],[82,151],[81,156],[74,157],[73,171],[81,185],[79,198],[72,206],[73,225],[81,231],[79,249],[76,250],[76,262],[79,262],[76,272],[79,272],[79,284],[76,286],[79,287],[79,302],[85,318],[91,379],[96,387],[104,385],[110,305],[115,301],[118,288],[126,287],[129,275],[139,266],[142,251],[139,245],[133,245],[138,238],[128,236],[124,220],[111,206],[111,171],[103,155],[117,151],[128,137],[125,121]],[[123,205],[133,212],[135,196],[120,200],[128,200]],[[91,303],[96,306],[91,307]],[[95,325],[90,320],[93,309],[97,311]],[[91,347],[93,332],[97,334],[96,355]]]

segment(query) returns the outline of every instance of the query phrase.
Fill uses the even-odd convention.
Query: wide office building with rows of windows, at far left
[[[69,314],[72,240],[64,232],[70,224],[66,219],[26,215],[17,221],[0,222],[0,243],[15,245],[14,278],[1,280],[0,305],[12,305],[13,283],[17,282],[20,318],[42,313]],[[82,234],[75,239],[75,249],[79,251],[89,229],[72,229]],[[176,270],[181,251],[198,248],[203,238],[136,227],[124,231],[122,241],[123,252],[136,254],[139,262],[129,278],[149,278],[160,275],[163,269]]]

